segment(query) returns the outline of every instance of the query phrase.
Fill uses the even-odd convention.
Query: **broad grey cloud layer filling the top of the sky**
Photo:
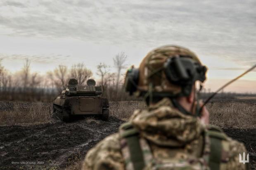
[[[255,5],[251,0],[5,0],[0,32],[117,46],[179,44],[250,65],[256,63]]]

